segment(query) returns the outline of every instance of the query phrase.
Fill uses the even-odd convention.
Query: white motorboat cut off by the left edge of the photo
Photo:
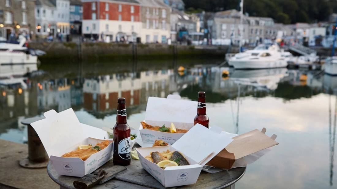
[[[21,37],[19,44],[0,42],[0,65],[36,64],[37,56],[33,49],[24,46],[26,38]]]

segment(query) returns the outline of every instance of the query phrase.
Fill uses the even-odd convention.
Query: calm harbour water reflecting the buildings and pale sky
[[[119,96],[127,99],[128,124],[138,128],[149,96],[197,100],[197,92],[206,91],[210,126],[236,134],[265,127],[267,135],[278,136],[280,144],[247,167],[237,188],[336,188],[337,77],[286,68],[233,70],[217,63],[42,64],[21,79],[26,86],[0,88],[0,139],[25,143],[21,120],[70,107],[80,122],[111,128]],[[177,71],[180,65],[184,72]]]

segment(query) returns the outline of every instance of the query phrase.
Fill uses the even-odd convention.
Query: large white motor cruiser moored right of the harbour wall
[[[229,65],[235,69],[262,69],[286,67],[288,64],[279,52],[277,44],[261,44],[253,50],[237,53],[229,59]]]

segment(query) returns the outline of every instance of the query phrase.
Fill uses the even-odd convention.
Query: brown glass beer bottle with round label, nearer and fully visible
[[[114,126],[114,164],[127,166],[131,162],[130,127],[126,123],[125,98],[117,99],[117,121]]]

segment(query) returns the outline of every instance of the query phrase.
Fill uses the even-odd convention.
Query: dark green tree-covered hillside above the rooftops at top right
[[[240,10],[240,0],[183,0],[185,10],[216,12],[228,9]],[[249,16],[271,17],[276,22],[327,21],[331,13],[337,13],[336,0],[244,0],[244,13]]]

